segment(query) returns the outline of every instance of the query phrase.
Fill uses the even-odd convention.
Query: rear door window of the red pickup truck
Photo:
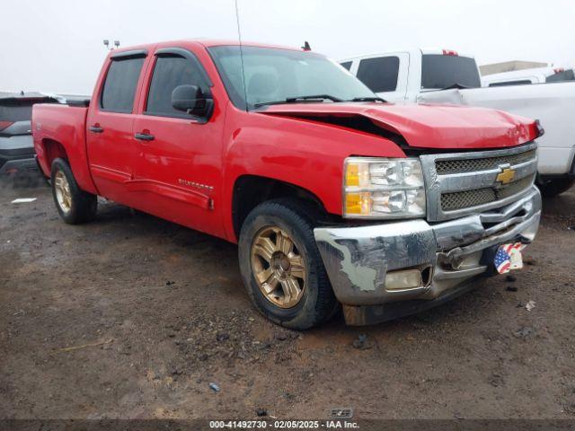
[[[134,108],[137,80],[145,57],[118,58],[111,62],[102,89],[100,107],[111,112],[131,113]]]

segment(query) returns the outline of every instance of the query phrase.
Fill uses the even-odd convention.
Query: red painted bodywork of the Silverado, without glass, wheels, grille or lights
[[[234,184],[242,176],[296,185],[318,198],[329,213],[341,215],[346,157],[405,157],[390,139],[333,126],[318,117],[362,116],[403,136],[414,147],[495,148],[536,137],[532,120],[495,110],[445,105],[300,103],[273,105],[258,112],[238,110],[206,50],[207,46],[234,44],[237,42],[175,41],[128,48],[148,51],[131,114],[99,108],[110,58],[102,67],[87,110],[35,105],[32,124],[41,127],[34,127],[33,134],[42,170],[49,174],[49,154],[43,143],[56,141],[66,149],[82,189],[235,242]],[[207,123],[146,114],[154,52],[159,48],[188,49],[204,66],[215,101]],[[93,125],[103,128],[102,134],[88,131]],[[142,132],[155,139],[134,138]]]

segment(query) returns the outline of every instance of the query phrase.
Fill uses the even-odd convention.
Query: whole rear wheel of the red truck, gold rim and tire
[[[57,212],[67,224],[88,222],[96,216],[98,198],[78,187],[66,160],[52,163],[51,186]]]

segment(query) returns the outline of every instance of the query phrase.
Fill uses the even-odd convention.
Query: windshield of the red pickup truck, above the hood
[[[317,94],[342,101],[377,97],[343,67],[312,52],[244,46],[240,57],[239,46],[208,51],[230,99],[240,109]]]

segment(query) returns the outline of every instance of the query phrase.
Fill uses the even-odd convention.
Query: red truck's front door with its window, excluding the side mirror
[[[180,85],[197,85],[212,94],[211,80],[195,54],[184,48],[157,49],[142,92],[142,112],[134,122],[139,161],[132,190],[144,211],[212,233],[221,224],[220,212],[212,210],[221,181],[224,121],[218,120],[217,101],[207,118],[174,109],[172,93]]]

